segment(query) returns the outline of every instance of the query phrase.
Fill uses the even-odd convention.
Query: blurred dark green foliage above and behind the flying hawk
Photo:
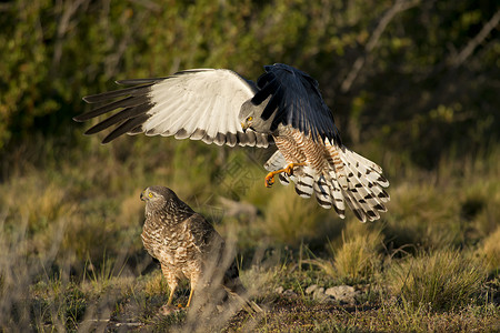
[[[81,97],[118,79],[200,67],[257,79],[283,62],[318,79],[347,142],[433,167],[443,152],[498,140],[499,10],[474,0],[3,2],[0,150],[33,132],[80,133]]]

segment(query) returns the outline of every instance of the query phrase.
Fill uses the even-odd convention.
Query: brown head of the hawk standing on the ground
[[[176,192],[166,186],[149,186],[141,193],[141,200],[146,201],[146,213],[162,211],[177,218],[186,218],[193,214],[193,210],[180,200]]]

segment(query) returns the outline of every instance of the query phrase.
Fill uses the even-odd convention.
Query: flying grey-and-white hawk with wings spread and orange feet
[[[318,82],[287,64],[264,69],[257,84],[226,69],[118,81],[133,87],[83,98],[107,103],[74,120],[119,109],[86,132],[116,125],[103,143],[123,133],[146,133],[230,147],[276,144],[278,151],[264,164],[267,186],[278,174],[284,184],[293,181],[299,195],[314,194],[322,208],[333,208],[341,218],[347,202],[362,222],[378,220],[387,211],[383,188],[389,182],[379,165],[342,144]]]

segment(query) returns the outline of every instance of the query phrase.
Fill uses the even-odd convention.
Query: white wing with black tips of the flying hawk
[[[120,110],[86,132],[93,134],[114,125],[102,143],[124,133],[174,135],[230,147],[268,147],[272,140],[251,130],[243,133],[238,114],[257,88],[233,71],[198,69],[117,83],[132,87],[83,98],[88,103],[106,104],[74,118],[86,121]]]

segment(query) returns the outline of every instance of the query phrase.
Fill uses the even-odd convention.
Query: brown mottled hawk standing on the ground
[[[146,201],[146,222],[142,243],[148,253],[158,259],[167,279],[170,295],[162,310],[169,311],[180,280],[191,284],[188,304],[194,291],[210,283],[244,301],[253,311],[260,307],[246,300],[247,291],[239,279],[236,262],[228,258],[226,243],[207,220],[164,186],[149,186],[141,193]]]

